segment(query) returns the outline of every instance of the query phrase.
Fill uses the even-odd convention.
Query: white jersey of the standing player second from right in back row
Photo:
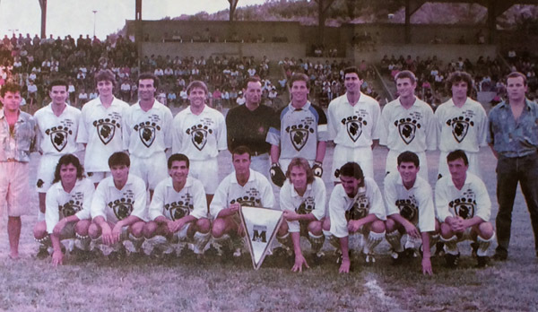
[[[412,107],[405,109],[398,98],[383,108],[379,143],[397,152],[435,151],[436,131],[430,105],[416,98]]]

